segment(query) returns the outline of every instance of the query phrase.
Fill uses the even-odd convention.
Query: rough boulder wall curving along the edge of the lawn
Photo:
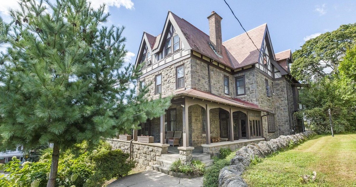
[[[261,141],[258,144],[251,143],[236,151],[236,156],[231,160],[230,166],[224,167],[219,173],[220,187],[247,187],[247,183],[241,177],[245,168],[250,165],[252,159],[266,157],[275,151],[285,149],[290,143],[298,144],[309,137],[314,136],[312,131],[295,135],[279,136],[277,139]]]

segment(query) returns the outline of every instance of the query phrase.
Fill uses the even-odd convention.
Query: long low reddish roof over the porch
[[[188,97],[212,101],[215,103],[227,104],[227,105],[231,105],[234,107],[240,107],[240,108],[245,108],[245,109],[252,109],[252,110],[268,112],[268,110],[261,109],[256,104],[248,103],[241,99],[231,99],[231,98],[227,98],[227,97],[223,97],[223,96],[219,96],[219,95],[214,95],[214,94],[211,94],[208,92],[202,92],[202,91],[199,91],[196,89],[186,89],[186,90],[178,91],[178,92],[175,92],[174,95],[175,96],[184,95],[184,96],[188,96]]]

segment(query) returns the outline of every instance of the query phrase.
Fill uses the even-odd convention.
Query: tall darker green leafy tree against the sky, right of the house
[[[298,80],[312,79],[337,73],[346,50],[356,43],[356,23],[341,25],[337,30],[326,32],[304,43],[293,53],[291,73]],[[330,73],[325,68],[331,69]]]

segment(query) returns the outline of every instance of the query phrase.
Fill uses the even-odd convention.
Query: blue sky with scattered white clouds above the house
[[[126,48],[131,53],[128,60],[135,61],[142,32],[152,35],[162,32],[168,10],[189,21],[209,34],[207,16],[215,11],[221,22],[223,41],[240,35],[244,31],[231,14],[224,0],[91,0],[94,6],[106,2],[109,24],[125,26]],[[267,23],[274,52],[299,49],[308,38],[333,31],[342,24],[356,22],[356,1],[262,1],[227,0],[235,15],[246,30]],[[0,0],[0,13],[6,8],[16,7],[12,0]]]

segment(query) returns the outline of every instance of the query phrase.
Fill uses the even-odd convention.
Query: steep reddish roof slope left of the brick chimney
[[[183,32],[183,35],[187,39],[189,46],[192,48],[192,50],[197,51],[205,56],[208,56],[211,59],[214,59],[215,61],[223,63],[225,66],[233,68],[225,49],[223,49],[222,57],[219,57],[210,47],[209,35],[205,34],[199,28],[190,24],[188,21],[178,17],[172,12],[171,14],[173,16],[173,19],[177,22],[177,25],[179,26],[180,30]]]

